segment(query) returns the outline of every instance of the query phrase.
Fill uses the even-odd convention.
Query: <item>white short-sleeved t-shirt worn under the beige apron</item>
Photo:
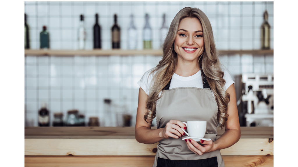
[[[141,80],[138,82],[138,85],[141,86],[141,88],[148,95],[149,95],[149,87],[150,87],[149,85],[152,80],[152,75],[150,75],[150,77],[148,79],[148,74],[150,73],[150,71],[151,70],[148,70],[143,75]],[[223,69],[223,72],[224,72],[224,80],[226,80],[224,90],[226,91],[226,89],[228,89],[229,86],[231,86],[234,83],[234,81],[233,81],[231,75],[229,74],[229,72],[227,72],[224,69]],[[148,80],[148,82],[147,82],[147,80]],[[203,89],[204,87],[203,87],[201,70],[199,70],[197,73],[195,73],[194,75],[189,76],[189,77],[181,77],[181,76],[177,75],[176,73],[174,73],[169,89],[180,88],[180,87],[194,87],[194,88],[202,88]],[[161,93],[162,92],[159,93],[159,96],[161,95]],[[213,94],[213,92],[212,92],[212,94]],[[213,94],[213,96],[214,96],[214,94]]]

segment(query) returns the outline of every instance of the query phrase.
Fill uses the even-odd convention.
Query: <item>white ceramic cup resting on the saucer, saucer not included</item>
[[[183,128],[181,128],[185,134],[189,137],[198,137],[198,138],[204,138],[206,133],[206,127],[207,127],[207,121],[187,121],[182,122],[187,127],[187,132]]]

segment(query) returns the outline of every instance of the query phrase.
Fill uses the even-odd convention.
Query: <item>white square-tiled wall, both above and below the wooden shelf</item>
[[[94,14],[100,15],[103,49],[111,49],[110,28],[113,14],[119,25],[127,30],[129,15],[135,15],[138,32],[138,49],[142,49],[144,15],[149,13],[153,34],[159,34],[162,14],[167,14],[167,25],[183,7],[198,7],[212,23],[217,47],[229,49],[260,49],[260,25],[265,9],[271,25],[271,48],[274,48],[274,2],[52,2],[25,1],[28,15],[30,44],[39,47],[39,32],[47,25],[51,49],[77,49],[79,15],[85,15],[87,29],[86,49],[92,49]],[[131,12],[126,12],[131,11]],[[127,48],[125,31],[121,33],[121,47]],[[159,37],[153,35],[153,49],[159,48]],[[135,125],[139,86],[137,81],[145,71],[155,67],[161,56],[89,56],[89,57],[36,57],[24,56],[24,126],[37,126],[37,111],[45,102],[51,112],[78,109],[90,116],[98,116],[101,126],[107,125],[103,99],[112,100],[114,117],[125,112],[133,116]],[[241,73],[274,73],[273,55],[222,55],[222,64],[235,77]],[[239,78],[239,77],[238,77]],[[237,87],[239,81],[235,81]],[[112,126],[116,126],[114,120]],[[110,125],[111,126],[111,125]]]

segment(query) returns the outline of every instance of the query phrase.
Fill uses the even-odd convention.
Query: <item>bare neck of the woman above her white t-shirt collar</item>
[[[195,75],[200,71],[200,65],[198,64],[198,58],[192,61],[185,60],[181,56],[177,55],[177,66],[174,73],[182,77],[189,77]]]

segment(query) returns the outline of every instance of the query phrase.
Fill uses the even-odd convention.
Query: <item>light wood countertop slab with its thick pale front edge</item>
[[[25,156],[155,155],[157,144],[137,142],[134,127],[24,127]],[[241,127],[240,140],[221,155],[274,155],[274,127]]]

